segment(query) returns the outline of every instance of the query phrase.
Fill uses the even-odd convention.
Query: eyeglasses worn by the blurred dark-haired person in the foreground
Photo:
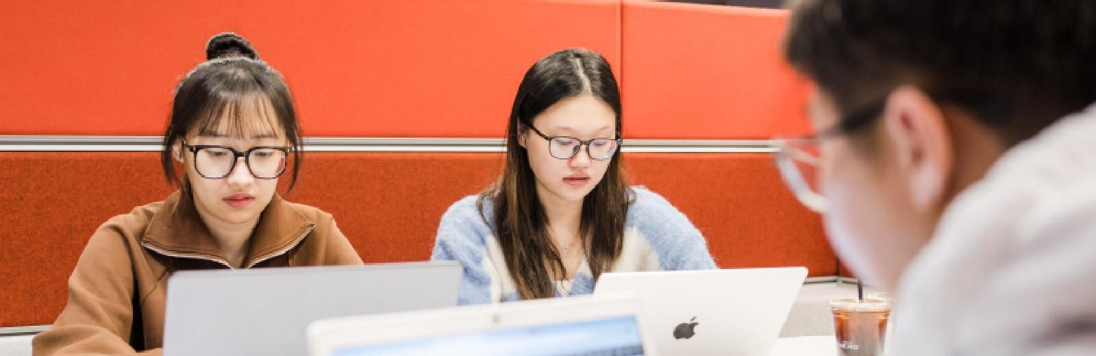
[[[882,116],[883,110],[887,108],[888,96],[842,115],[837,125],[814,135],[776,141],[777,151],[773,156],[776,160],[776,166],[780,171],[780,177],[784,179],[800,203],[817,213],[825,213],[829,208],[829,200],[817,186],[818,165],[822,161],[819,143],[870,126]]]

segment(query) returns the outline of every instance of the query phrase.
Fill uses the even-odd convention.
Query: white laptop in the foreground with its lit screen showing
[[[654,355],[630,296],[573,297],[323,320],[311,356]]]

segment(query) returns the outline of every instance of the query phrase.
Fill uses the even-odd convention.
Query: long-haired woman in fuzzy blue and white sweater
[[[566,49],[525,73],[502,177],[442,217],[431,260],[465,267],[460,303],[593,292],[602,273],[710,269],[700,232],[665,198],[629,187],[620,93],[608,62]]]

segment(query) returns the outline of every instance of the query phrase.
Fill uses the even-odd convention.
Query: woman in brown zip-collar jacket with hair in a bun
[[[175,271],[362,263],[331,215],[275,194],[290,165],[293,188],[300,162],[282,76],[231,33],[210,38],[206,58],[175,89],[163,136],[164,174],[180,190],[95,231],[34,355],[159,355]]]

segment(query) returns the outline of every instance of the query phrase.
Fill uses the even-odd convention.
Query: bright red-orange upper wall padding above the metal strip
[[[221,31],[249,38],[285,74],[313,137],[498,137],[525,70],[567,47],[614,66],[626,137],[806,129],[807,87],[779,57],[784,10],[613,0],[46,0],[0,10],[0,43],[19,49],[0,57],[13,69],[0,71],[0,117],[10,118],[0,135],[161,135],[172,88]]]

